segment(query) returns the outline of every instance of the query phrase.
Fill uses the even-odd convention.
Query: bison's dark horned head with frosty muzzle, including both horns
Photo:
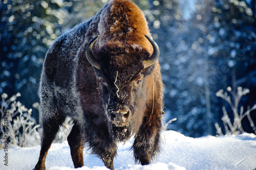
[[[154,69],[159,47],[150,37],[154,52],[150,54],[137,44],[108,42],[93,54],[95,37],[87,46],[88,61],[102,81],[103,104],[115,127],[142,122],[146,108],[146,77]]]

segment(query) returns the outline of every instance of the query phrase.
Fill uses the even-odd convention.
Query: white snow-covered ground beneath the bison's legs
[[[175,131],[162,134],[162,152],[151,165],[134,163],[130,151],[132,140],[120,143],[118,156],[114,159],[115,169],[249,169],[256,168],[256,136],[186,137]],[[8,166],[4,165],[4,150],[0,150],[0,169],[32,169],[38,159],[40,146],[12,148],[8,150]],[[84,149],[84,167],[107,169],[102,161]],[[51,170],[74,169],[67,142],[53,143],[46,158],[46,168]]]

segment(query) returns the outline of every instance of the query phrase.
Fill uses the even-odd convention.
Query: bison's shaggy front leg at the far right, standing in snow
[[[144,118],[133,144],[135,161],[142,165],[150,164],[151,159],[160,150],[162,120],[160,115],[155,116],[155,119],[153,117],[146,116]]]

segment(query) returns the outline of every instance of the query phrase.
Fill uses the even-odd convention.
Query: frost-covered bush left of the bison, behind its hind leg
[[[17,93],[10,99],[6,93],[2,94],[1,104],[1,145],[6,140],[9,145],[16,147],[28,147],[40,143],[40,135],[37,132],[39,125],[36,124],[35,118],[31,117],[32,109],[27,109],[19,101]]]

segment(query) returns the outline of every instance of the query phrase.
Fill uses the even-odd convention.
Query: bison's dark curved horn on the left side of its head
[[[95,37],[93,40],[91,40],[89,42],[89,44],[86,47],[86,57],[87,60],[89,61],[89,63],[92,64],[92,66],[94,66],[97,69],[100,69],[100,64],[99,64],[99,60],[97,60],[93,53],[92,53],[92,48],[93,48],[93,44],[94,42],[99,38],[99,35],[97,37]]]

